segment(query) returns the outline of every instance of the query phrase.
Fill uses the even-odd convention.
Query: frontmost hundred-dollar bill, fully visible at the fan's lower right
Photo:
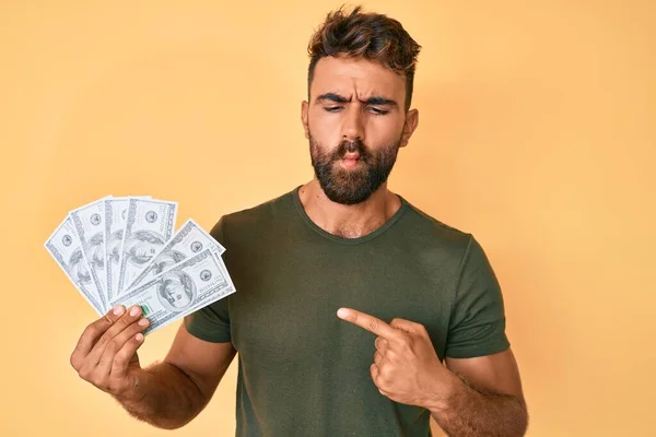
[[[216,247],[207,248],[119,296],[112,306],[139,305],[150,321],[144,335],[235,292]]]

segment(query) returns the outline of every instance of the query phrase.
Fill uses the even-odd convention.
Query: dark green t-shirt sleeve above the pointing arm
[[[445,355],[472,358],[505,351],[505,310],[501,286],[483,248],[470,236],[456,285]]]

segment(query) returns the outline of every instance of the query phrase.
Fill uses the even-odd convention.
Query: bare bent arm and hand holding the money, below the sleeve
[[[138,420],[178,428],[208,404],[236,351],[195,338],[183,323],[164,362],[141,368],[137,350],[145,327],[139,307],[109,311],[84,330],[71,365]]]

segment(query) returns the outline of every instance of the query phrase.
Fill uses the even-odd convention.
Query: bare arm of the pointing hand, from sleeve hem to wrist
[[[446,358],[447,393],[430,405],[449,436],[524,436],[528,413],[513,352],[477,358]]]

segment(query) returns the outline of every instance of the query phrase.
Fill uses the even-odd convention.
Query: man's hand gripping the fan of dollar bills
[[[114,307],[86,327],[71,355],[71,365],[80,377],[116,397],[137,395],[137,377],[141,373],[137,350],[143,344],[141,333],[149,324],[141,308]]]

